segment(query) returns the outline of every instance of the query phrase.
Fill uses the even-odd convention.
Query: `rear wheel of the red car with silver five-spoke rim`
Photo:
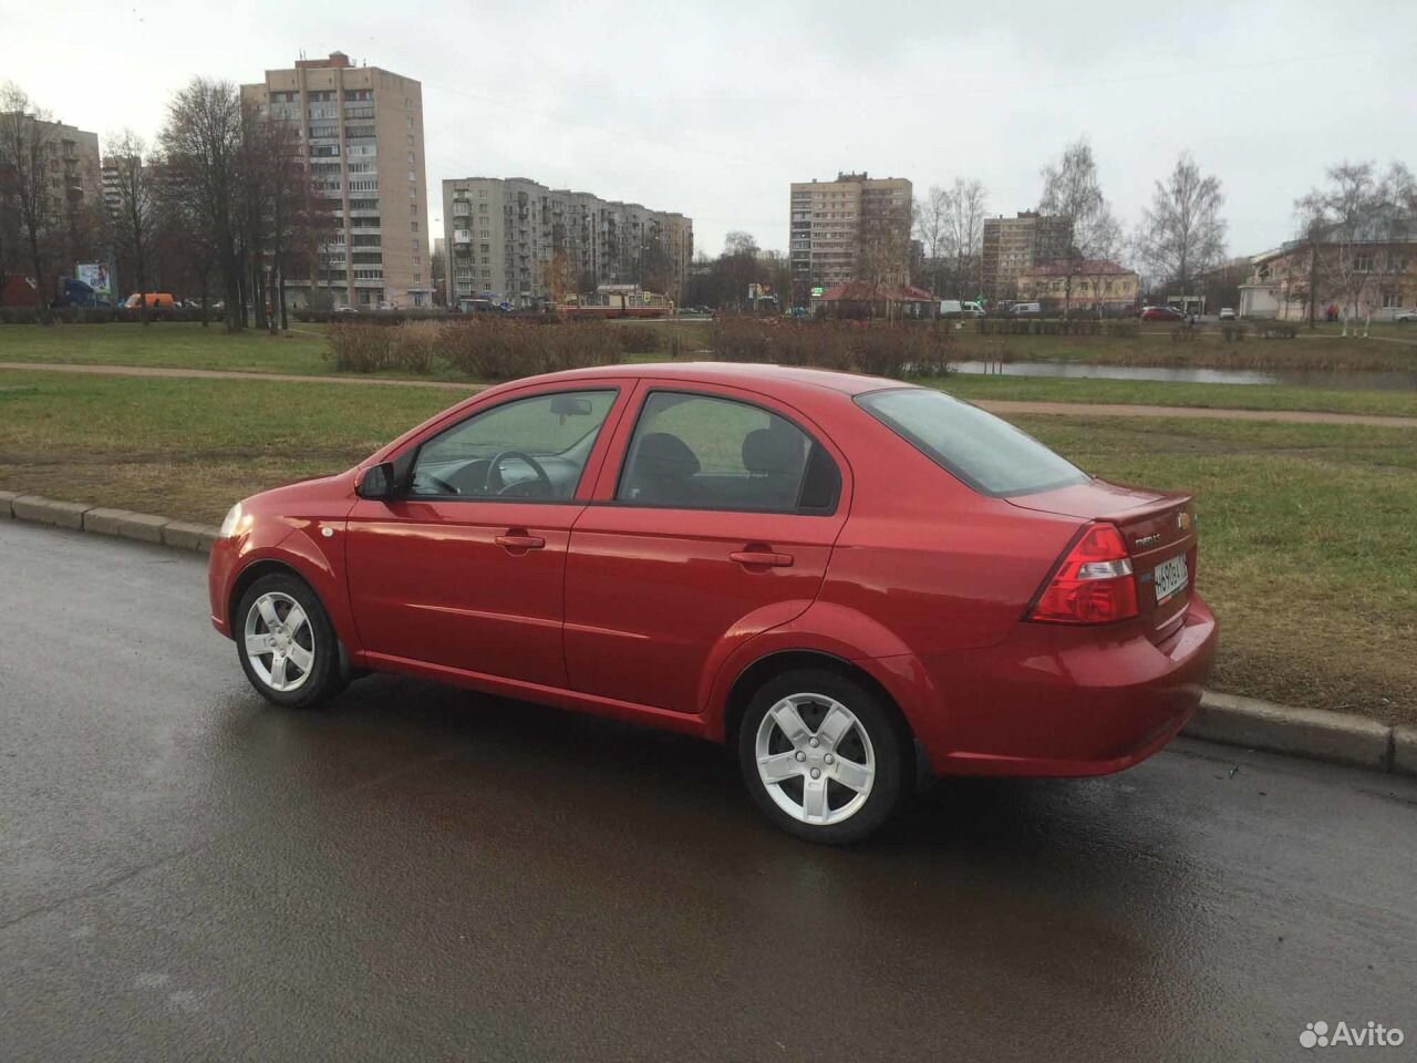
[[[908,789],[911,738],[896,707],[826,669],[774,676],[738,729],[743,781],[762,814],[796,838],[852,845]]]

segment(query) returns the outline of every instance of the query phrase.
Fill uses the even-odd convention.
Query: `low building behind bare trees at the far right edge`
[[[1250,259],[1241,317],[1308,320],[1311,303],[1321,320],[1380,320],[1417,308],[1417,240],[1295,240]]]

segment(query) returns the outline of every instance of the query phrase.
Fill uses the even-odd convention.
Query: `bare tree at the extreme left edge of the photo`
[[[24,91],[0,86],[0,200],[18,218],[21,240],[38,289],[38,312],[48,316],[44,293],[52,291],[44,274],[44,251],[58,204],[50,193],[50,164],[58,150],[55,126],[47,111],[35,108]]]

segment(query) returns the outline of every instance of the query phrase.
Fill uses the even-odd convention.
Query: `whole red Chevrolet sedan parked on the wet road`
[[[915,777],[1097,775],[1195,712],[1192,500],[939,391],[772,366],[490,388],[235,506],[211,621],[310,706],[366,670],[737,746],[762,811],[864,838]]]

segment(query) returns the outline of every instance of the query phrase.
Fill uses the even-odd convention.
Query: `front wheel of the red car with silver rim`
[[[268,702],[310,709],[347,686],[330,618],[299,577],[262,575],[241,595],[234,621],[241,669]]]

